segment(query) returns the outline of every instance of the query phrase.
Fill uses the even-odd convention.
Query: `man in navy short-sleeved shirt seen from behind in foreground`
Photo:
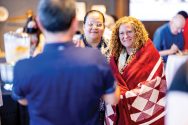
[[[16,63],[12,90],[15,100],[28,105],[30,125],[99,125],[98,100],[119,100],[101,52],[73,44],[75,17],[74,0],[39,2],[37,23],[46,44],[41,54]]]

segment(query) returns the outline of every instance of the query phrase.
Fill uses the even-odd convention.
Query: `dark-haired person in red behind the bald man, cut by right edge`
[[[183,28],[183,37],[184,37],[184,50],[188,51],[188,14],[185,11],[179,11],[178,14],[182,15],[185,18],[185,26]]]

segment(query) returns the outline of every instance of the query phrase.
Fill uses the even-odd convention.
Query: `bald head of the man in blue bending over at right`
[[[184,25],[185,18],[180,14],[175,15],[170,21],[170,30],[172,34],[177,35],[178,33],[182,32]]]

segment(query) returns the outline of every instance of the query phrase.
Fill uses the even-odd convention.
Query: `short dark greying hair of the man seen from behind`
[[[39,20],[49,32],[67,31],[76,16],[74,0],[40,0]]]

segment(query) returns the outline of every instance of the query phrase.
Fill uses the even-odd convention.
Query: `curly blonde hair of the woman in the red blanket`
[[[135,50],[140,49],[148,40],[148,33],[141,21],[138,19],[131,17],[131,16],[125,16],[120,18],[113,30],[112,30],[112,37],[110,41],[110,55],[113,55],[115,59],[117,60],[119,58],[119,55],[123,48],[125,48],[119,39],[119,27],[122,24],[131,24],[134,28],[135,36],[134,36],[134,43],[133,48]]]

